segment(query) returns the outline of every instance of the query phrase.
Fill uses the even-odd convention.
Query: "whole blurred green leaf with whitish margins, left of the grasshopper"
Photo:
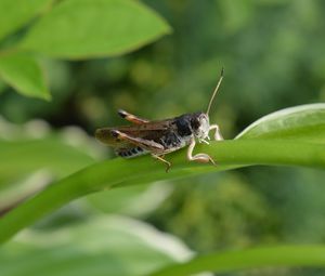
[[[20,127],[0,120],[0,212],[93,163],[96,150],[89,142],[78,129],[53,133],[39,120]]]

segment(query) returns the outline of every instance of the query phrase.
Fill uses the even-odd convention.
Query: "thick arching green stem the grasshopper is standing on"
[[[308,111],[322,114],[324,105],[310,105]],[[283,117],[286,115],[284,114]],[[303,127],[308,134],[310,120],[297,116],[296,123]],[[278,117],[280,119],[280,117]],[[300,120],[298,122],[298,120]],[[324,121],[325,123],[325,121]],[[311,128],[312,130],[312,128]],[[309,137],[312,136],[312,131]],[[281,136],[281,134],[278,134]],[[213,142],[197,145],[195,153],[207,153],[218,166],[188,162],[185,149],[168,156],[173,167],[169,173],[165,167],[151,157],[132,160],[116,158],[90,166],[43,190],[29,201],[21,205],[0,220],[0,242],[8,240],[22,228],[63,205],[88,194],[127,185],[150,183],[159,180],[191,178],[213,171],[229,170],[244,166],[300,166],[325,169],[325,144],[290,139],[246,139]]]

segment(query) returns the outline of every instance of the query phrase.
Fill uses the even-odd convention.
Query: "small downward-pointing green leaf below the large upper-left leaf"
[[[31,55],[0,55],[0,78],[23,95],[51,98],[41,67]]]

